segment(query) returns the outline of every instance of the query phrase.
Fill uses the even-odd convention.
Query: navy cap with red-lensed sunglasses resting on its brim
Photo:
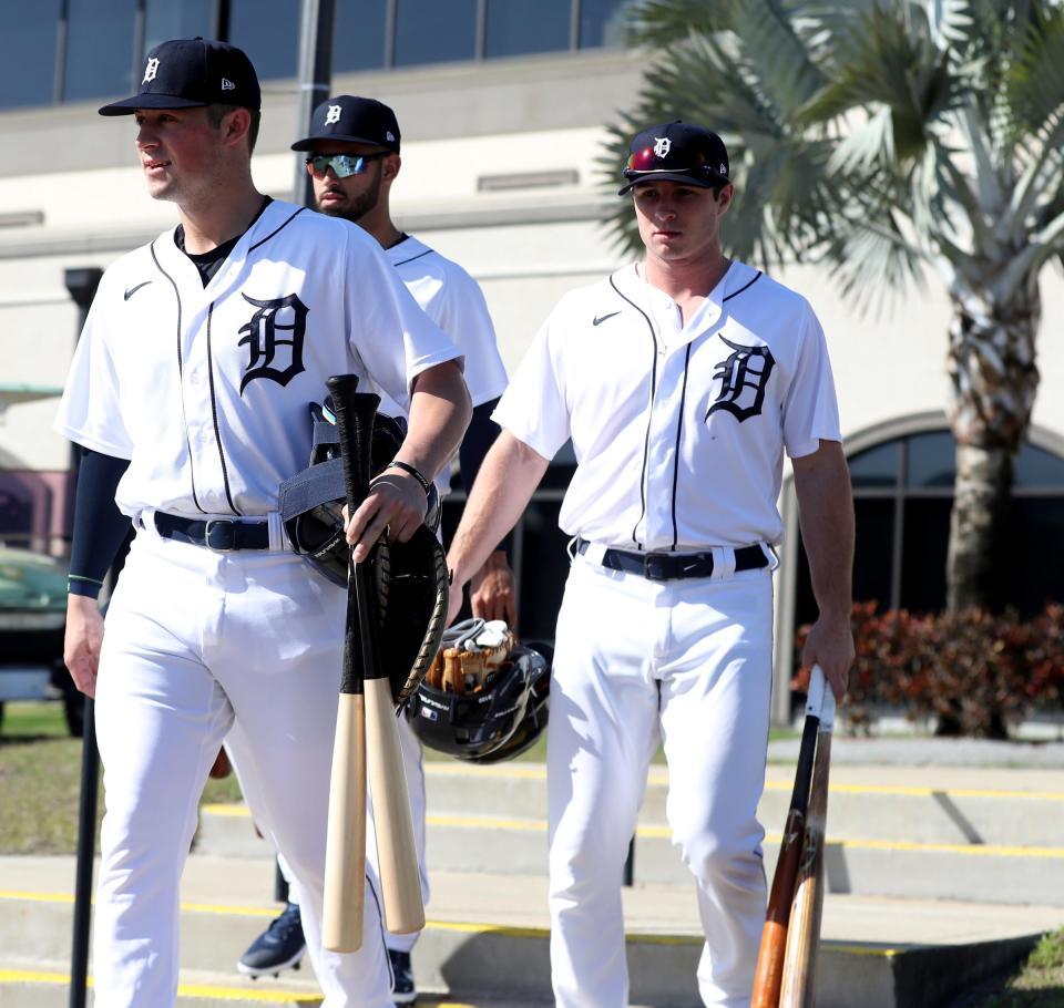
[[[641,182],[682,182],[702,188],[730,182],[728,150],[716,133],[676,120],[637,133],[621,174],[623,196]]]

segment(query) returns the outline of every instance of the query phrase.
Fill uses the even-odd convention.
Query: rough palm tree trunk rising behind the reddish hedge
[[[1000,275],[988,268],[990,279]],[[1000,559],[1012,498],[1012,461],[1026,438],[1039,387],[1034,339],[1042,318],[1036,278],[1002,301],[992,284],[954,278],[949,371],[956,483],[950,520],[947,606],[998,609]],[[996,572],[996,573],[995,573]]]

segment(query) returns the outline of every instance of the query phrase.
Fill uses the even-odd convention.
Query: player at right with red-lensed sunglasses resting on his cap
[[[846,690],[852,502],[823,333],[799,295],[720,250],[724,143],[681,122],[624,167],[643,260],[566,296],[503,394],[449,553],[454,583],[572,438],[573,563],[548,738],[551,961],[561,1008],[623,1008],[621,876],[664,743],[697,886],[706,1005],[750,1001],[765,914],[774,546],[791,459],[820,616],[802,656]]]

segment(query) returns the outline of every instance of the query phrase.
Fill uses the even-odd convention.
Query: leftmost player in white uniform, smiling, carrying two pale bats
[[[330,374],[407,408],[397,459],[432,477],[470,407],[458,351],[377,243],[255,189],[258,109],[244,53],[195,39],[152,50],[139,94],[101,110],[135,115],[149,191],[181,222],[104,275],[57,421],[89,463],[66,660],[95,695],[105,769],[94,985],[106,1008],[174,1004],[181,870],[223,738],[294,871],[326,1005],[392,1004],[372,871],[361,949],[320,946],[346,593],[286,551],[277,490],[306,466],[308,407]],[[119,471],[110,501],[98,456]],[[386,525],[402,539],[424,516],[419,481],[388,475],[349,524],[357,559]],[[136,536],[104,632],[91,586],[110,557],[78,539],[106,538],[105,521],[86,529],[80,515],[115,503]]]

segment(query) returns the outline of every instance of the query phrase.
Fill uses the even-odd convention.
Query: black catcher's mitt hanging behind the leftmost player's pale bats
[[[380,660],[402,707],[439,652],[447,620],[447,557],[421,525],[407,543],[381,539],[370,558],[377,582]]]

